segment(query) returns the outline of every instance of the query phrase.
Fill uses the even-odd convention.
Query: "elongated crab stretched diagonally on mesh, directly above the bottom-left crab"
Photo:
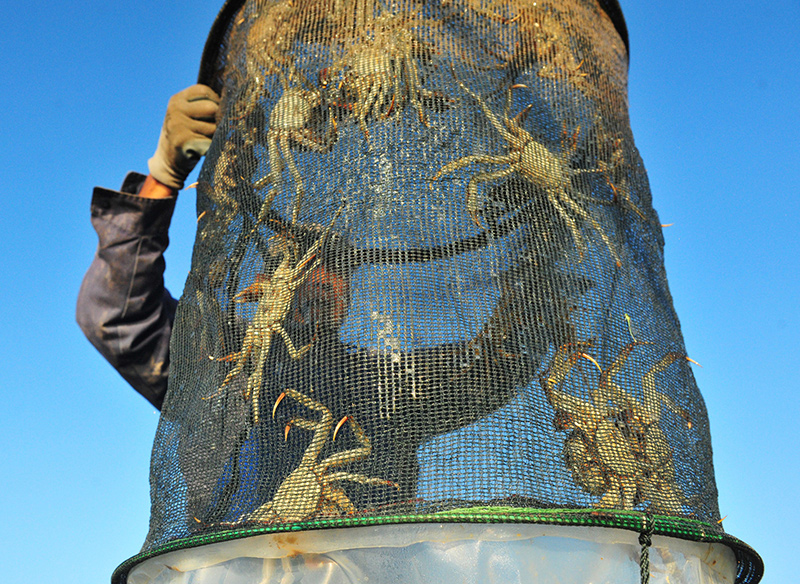
[[[256,278],[253,284],[233,298],[235,302],[258,302],[258,304],[253,319],[245,332],[242,348],[236,353],[216,359],[217,361],[235,362],[236,365],[228,372],[215,395],[222,392],[234,377],[242,373],[248,364],[251,364],[244,398],[246,400],[252,398],[254,424],[257,424],[260,419],[259,392],[264,374],[264,364],[272,346],[272,338],[276,334],[281,336],[292,359],[302,359],[311,350],[313,340],[300,349],[295,347],[289,333],[283,328],[283,321],[289,314],[297,288],[322,263],[322,259],[317,257],[317,254],[343,209],[344,205],[339,207],[331,222],[300,259],[297,259],[297,243],[290,236],[276,234],[274,237],[277,246],[283,254],[281,263],[270,276],[262,274]]]

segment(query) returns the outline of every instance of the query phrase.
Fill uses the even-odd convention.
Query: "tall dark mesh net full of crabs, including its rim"
[[[247,0],[142,553],[414,522],[729,545],[618,6]]]

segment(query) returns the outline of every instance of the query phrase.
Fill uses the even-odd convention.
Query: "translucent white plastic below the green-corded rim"
[[[534,524],[404,524],[259,535],[151,558],[128,584],[637,584],[638,534]],[[732,584],[724,544],[654,536],[652,584]]]

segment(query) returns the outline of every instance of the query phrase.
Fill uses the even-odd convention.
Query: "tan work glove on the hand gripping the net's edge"
[[[211,145],[218,110],[219,96],[205,85],[192,85],[170,98],[156,153],[147,161],[154,179],[173,189],[183,188]]]

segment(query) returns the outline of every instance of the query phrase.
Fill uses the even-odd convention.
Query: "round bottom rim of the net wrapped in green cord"
[[[764,563],[758,553],[743,541],[724,533],[719,526],[666,515],[647,515],[634,511],[610,509],[529,509],[517,507],[471,507],[420,515],[390,515],[385,517],[343,517],[315,519],[290,524],[258,525],[246,528],[214,531],[170,541],[150,551],[140,553],[120,564],[111,577],[112,584],[125,584],[128,573],[138,564],[169,552],[185,550],[270,533],[365,527],[403,523],[537,523],[574,527],[609,527],[642,533],[652,525],[653,535],[664,535],[688,541],[722,543],[736,556],[736,584],[757,584],[764,573]]]

